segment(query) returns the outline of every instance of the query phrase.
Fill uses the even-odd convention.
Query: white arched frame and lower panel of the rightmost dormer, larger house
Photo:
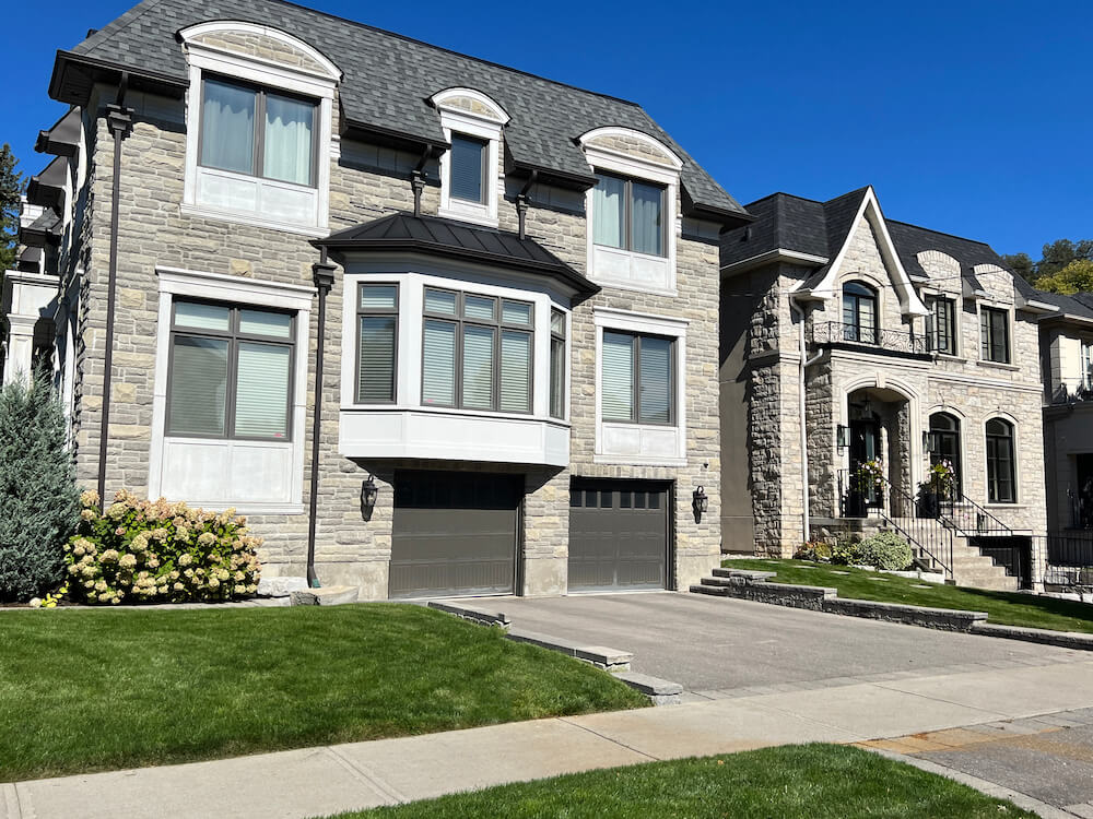
[[[590,144],[601,136],[620,136],[634,139],[649,149],[660,153],[669,164],[661,164],[638,158],[632,154]],[[665,191],[665,254],[649,256],[633,250],[608,248],[597,245],[595,236],[595,200],[596,188],[589,188],[585,193],[585,214],[588,236],[588,277],[597,284],[603,284],[624,290],[655,293],[663,296],[678,295],[675,288],[675,254],[677,244],[682,229],[682,217],[679,212],[680,169],[683,162],[674,153],[640,131],[628,128],[598,128],[580,138],[585,158],[592,173],[604,170],[615,176],[627,177],[642,182],[663,186]],[[640,276],[656,280],[642,283]]]

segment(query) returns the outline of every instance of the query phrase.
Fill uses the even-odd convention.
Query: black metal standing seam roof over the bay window
[[[439,216],[396,213],[312,242],[336,259],[351,251],[420,252],[546,275],[586,296],[600,288],[533,239]]]

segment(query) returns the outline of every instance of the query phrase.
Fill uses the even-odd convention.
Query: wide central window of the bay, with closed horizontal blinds
[[[426,287],[422,404],[531,412],[533,306]]]

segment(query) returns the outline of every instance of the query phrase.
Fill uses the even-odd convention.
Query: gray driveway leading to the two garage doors
[[[1086,652],[672,592],[465,601],[513,627],[634,653],[708,699],[1089,660]]]

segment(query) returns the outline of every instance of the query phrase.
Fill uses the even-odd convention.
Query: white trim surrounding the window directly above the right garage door
[[[631,466],[686,466],[686,329],[689,321],[669,316],[597,307],[592,311],[596,325],[596,447],[593,463],[624,464]],[[662,335],[675,340],[675,425],[613,424],[603,420],[603,332],[618,330],[625,333]],[[625,426],[637,430],[672,430],[675,438],[671,456],[619,455],[606,452],[604,425]]]

